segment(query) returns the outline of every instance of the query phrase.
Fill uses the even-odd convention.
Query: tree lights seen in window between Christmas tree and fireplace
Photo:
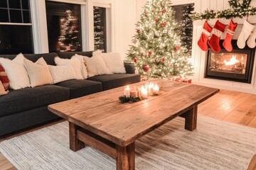
[[[189,55],[191,55],[192,51],[193,20],[190,15],[194,10],[193,6],[193,4],[186,4],[181,18],[181,45],[186,47]]]

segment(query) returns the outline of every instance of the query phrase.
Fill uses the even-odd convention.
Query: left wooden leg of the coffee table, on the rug
[[[69,123],[70,149],[74,152],[85,147],[85,143],[78,140],[78,125]]]

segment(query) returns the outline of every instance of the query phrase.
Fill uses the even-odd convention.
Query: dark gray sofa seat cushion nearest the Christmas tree
[[[140,81],[140,76],[139,74],[107,74],[89,77],[88,79],[100,81],[102,83],[102,89],[105,91],[119,86],[137,83]]]

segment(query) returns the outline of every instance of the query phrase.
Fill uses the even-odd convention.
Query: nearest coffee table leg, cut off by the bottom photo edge
[[[117,170],[134,170],[135,142],[126,147],[117,145]]]

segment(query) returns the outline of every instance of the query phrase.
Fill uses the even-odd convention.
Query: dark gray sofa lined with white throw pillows
[[[33,62],[43,57],[47,64],[55,65],[54,57],[70,59],[75,54],[92,57],[92,52],[51,52],[24,56]],[[0,55],[0,57],[13,60],[16,55]],[[88,79],[62,81],[53,85],[10,90],[9,94],[0,96],[0,136],[58,119],[57,115],[47,109],[52,103],[140,81],[139,74],[134,74],[133,64],[124,63],[124,67],[126,74],[98,75]]]

